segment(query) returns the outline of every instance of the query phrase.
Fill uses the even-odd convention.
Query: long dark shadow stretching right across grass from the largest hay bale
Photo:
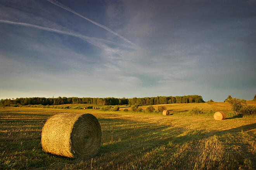
[[[193,139],[204,139],[214,135],[237,133],[242,130],[249,131],[256,128],[256,123],[254,123],[224,131],[204,133],[204,131],[188,132],[188,129],[185,128],[171,128],[171,126],[145,124],[118,118],[99,119],[99,122],[102,126],[102,145],[98,155],[122,151],[124,148],[139,150],[145,146],[152,149],[167,145],[169,142],[183,145]],[[114,129],[109,129],[109,127],[114,126],[116,126]],[[119,129],[118,126],[120,126]],[[183,133],[185,133],[184,136],[182,136]]]

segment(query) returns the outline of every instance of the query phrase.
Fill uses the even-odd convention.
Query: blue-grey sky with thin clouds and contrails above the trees
[[[256,93],[256,0],[0,0],[0,99]]]

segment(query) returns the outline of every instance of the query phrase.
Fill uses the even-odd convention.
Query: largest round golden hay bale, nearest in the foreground
[[[98,152],[100,142],[100,124],[92,114],[55,114],[42,129],[43,151],[54,155],[69,158],[93,156]]]

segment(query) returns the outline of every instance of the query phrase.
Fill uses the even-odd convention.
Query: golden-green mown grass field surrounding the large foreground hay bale
[[[90,112],[100,122],[99,153],[85,160],[42,151],[41,130],[59,112]],[[256,118],[0,108],[0,169],[255,169]]]

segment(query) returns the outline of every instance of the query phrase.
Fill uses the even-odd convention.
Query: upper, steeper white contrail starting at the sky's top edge
[[[58,2],[58,1],[56,1],[56,0],[47,0],[47,1],[50,2],[50,3],[53,3],[54,5],[57,5],[58,7],[63,8],[64,10],[67,10],[67,11],[69,11],[69,12],[72,12],[73,14],[78,15],[79,17],[82,17],[83,19],[86,19],[86,20],[92,22],[92,23],[95,24],[96,26],[99,26],[99,27],[101,27],[101,28],[103,28],[103,29],[105,29],[105,30],[111,32],[112,34],[115,34],[115,35],[118,36],[119,38],[123,39],[123,40],[126,41],[126,42],[129,42],[129,43],[132,44],[132,45],[135,45],[135,44],[133,44],[131,41],[129,41],[128,39],[126,39],[125,37],[119,35],[118,33],[114,32],[114,31],[112,31],[112,30],[109,29],[108,27],[103,26],[102,24],[100,24],[100,23],[98,23],[98,22],[95,22],[95,21],[93,21],[93,20],[91,20],[91,19],[89,19],[89,18],[87,18],[87,17],[84,17],[83,15],[77,13],[76,11],[74,11],[74,10],[72,10],[72,9],[70,9],[70,8],[68,8],[68,7],[66,7],[66,6],[64,6],[64,5],[63,5],[62,3],[60,3],[60,2]]]

